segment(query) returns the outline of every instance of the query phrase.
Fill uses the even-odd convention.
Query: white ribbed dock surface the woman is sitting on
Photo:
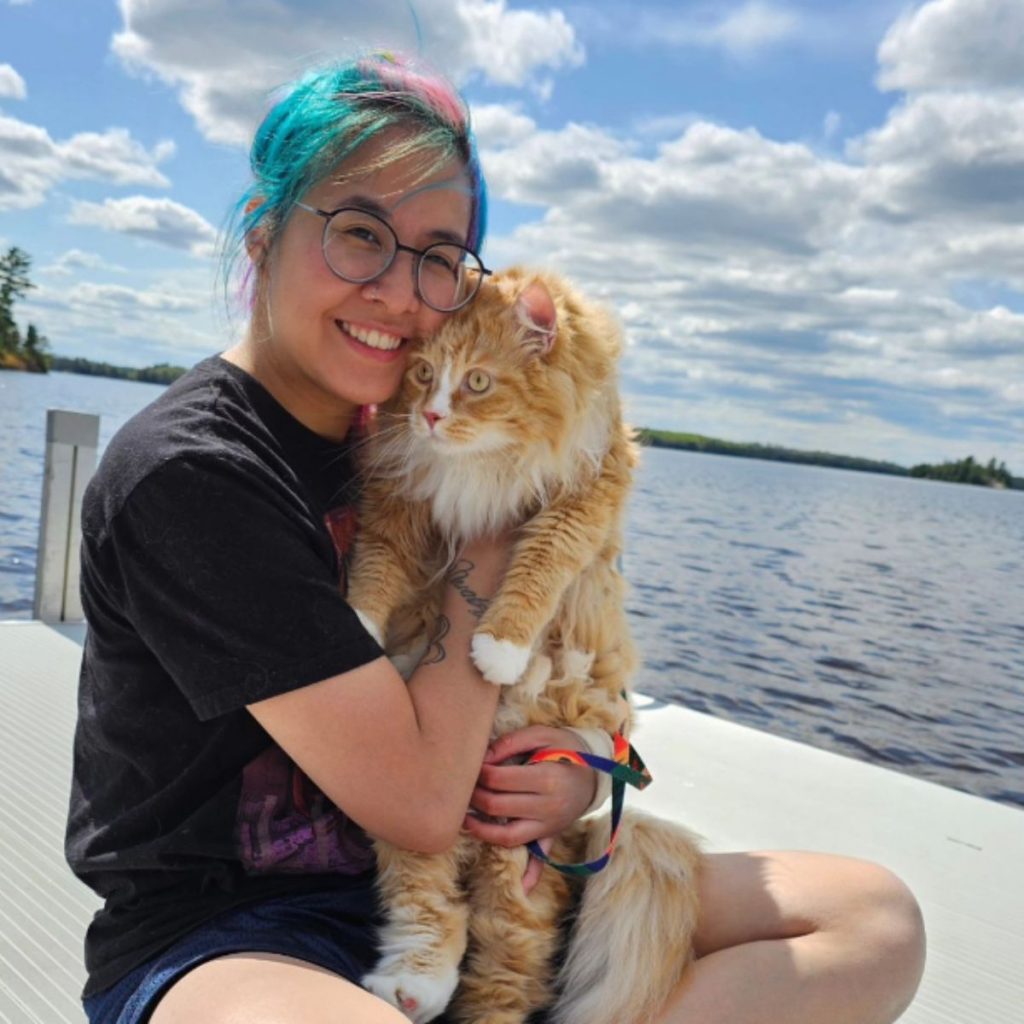
[[[97,901],[62,857],[82,626],[0,623],[0,1022],[82,1024]],[[929,937],[902,1024],[1024,1024],[1024,811],[640,699],[654,784],[630,801],[711,850],[798,848],[886,864]],[[799,1024],[795,1021],[794,1024]]]

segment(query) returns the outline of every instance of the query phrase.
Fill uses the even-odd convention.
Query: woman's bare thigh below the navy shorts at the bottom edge
[[[151,1024],[409,1024],[377,996],[312,964],[274,953],[207,961],[168,989]]]

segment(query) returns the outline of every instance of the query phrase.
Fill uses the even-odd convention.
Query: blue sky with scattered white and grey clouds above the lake
[[[624,325],[637,425],[1024,475],[1021,0],[0,0],[0,249],[61,355],[190,366],[275,87],[368,46],[469,100],[488,266]]]

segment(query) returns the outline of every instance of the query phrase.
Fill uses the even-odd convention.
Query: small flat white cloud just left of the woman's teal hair
[[[69,222],[145,239],[204,257],[212,255],[217,238],[215,228],[195,210],[170,199],[145,196],[75,203]]]

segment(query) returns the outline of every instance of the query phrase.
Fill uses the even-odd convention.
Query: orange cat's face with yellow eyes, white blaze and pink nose
[[[411,356],[396,404],[420,444],[443,455],[511,454],[550,437],[554,306],[545,290],[538,313],[544,298],[535,294],[535,308],[525,308],[524,294],[528,303],[528,290],[489,285]],[[538,317],[550,324],[539,327]]]

